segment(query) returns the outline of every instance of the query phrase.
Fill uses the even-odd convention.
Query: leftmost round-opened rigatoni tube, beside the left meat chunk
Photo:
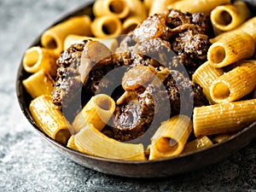
[[[22,65],[28,73],[36,73],[44,69],[50,75],[55,76],[57,70],[56,59],[57,57],[50,49],[35,46],[26,50]]]

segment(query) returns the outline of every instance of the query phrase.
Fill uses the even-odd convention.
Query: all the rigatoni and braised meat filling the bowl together
[[[198,6],[198,5],[201,6]],[[96,0],[26,50],[38,127],[84,154],[158,160],[256,121],[256,18],[230,0]]]

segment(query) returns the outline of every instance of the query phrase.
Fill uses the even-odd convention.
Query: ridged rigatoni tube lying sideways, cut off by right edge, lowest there
[[[239,131],[256,120],[256,99],[194,108],[195,137]]]

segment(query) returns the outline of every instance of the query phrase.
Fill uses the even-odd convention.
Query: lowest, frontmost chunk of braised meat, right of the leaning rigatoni
[[[129,102],[117,105],[110,122],[112,137],[121,142],[142,136],[149,127],[155,130],[169,118],[170,104],[166,90],[148,84],[146,89],[135,92]]]

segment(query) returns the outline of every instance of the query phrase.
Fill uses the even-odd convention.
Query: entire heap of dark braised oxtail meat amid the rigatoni
[[[191,116],[208,104],[191,77],[207,60],[209,27],[202,13],[170,9],[148,16],[113,53],[95,41],[73,44],[57,61],[53,101],[72,121],[91,96],[112,96],[116,109],[103,133],[122,142],[178,113]]]

